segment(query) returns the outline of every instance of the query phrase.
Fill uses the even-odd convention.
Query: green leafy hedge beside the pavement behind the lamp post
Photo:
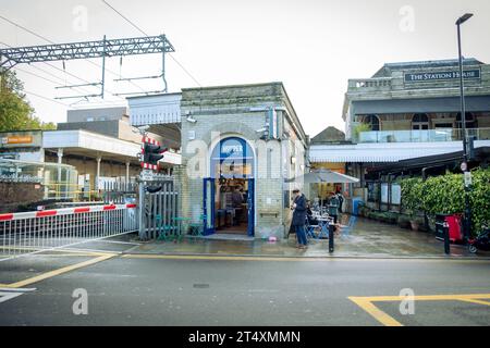
[[[473,185],[469,194],[473,231],[479,233],[483,223],[490,223],[490,169],[471,171]],[[463,174],[445,174],[422,181],[405,178],[402,187],[402,204],[411,214],[426,212],[436,214],[463,213],[465,190]]]

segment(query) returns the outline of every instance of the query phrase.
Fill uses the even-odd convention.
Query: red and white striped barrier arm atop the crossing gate
[[[137,207],[136,204],[108,204],[108,206],[94,206],[94,207],[63,208],[63,209],[56,209],[56,210],[29,211],[29,212],[25,212],[25,213],[8,213],[8,214],[0,214],[0,221],[14,221],[14,220],[38,219],[38,217],[47,217],[47,216],[91,213],[91,212],[97,212],[97,211],[135,209],[136,207]]]

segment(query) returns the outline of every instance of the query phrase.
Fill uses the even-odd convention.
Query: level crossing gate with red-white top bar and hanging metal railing
[[[136,232],[136,204],[0,214],[0,261]]]

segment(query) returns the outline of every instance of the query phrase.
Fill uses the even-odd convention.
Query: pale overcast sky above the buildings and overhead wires
[[[490,62],[489,0],[107,1],[149,35],[167,34],[176,50],[173,57],[203,86],[283,82],[310,136],[329,125],[344,129],[341,116],[348,78],[370,77],[385,62],[457,58],[454,22],[465,12],[475,16],[464,24],[464,55]],[[0,15],[59,44],[98,40],[103,35],[142,36],[101,0],[0,0]],[[15,47],[47,44],[1,18],[0,42]],[[94,62],[100,64],[100,60]],[[52,64],[62,69],[61,62]],[[82,83],[69,74],[99,80],[96,65],[68,61],[68,73],[42,63],[36,66],[19,65],[17,74],[28,92],[49,99],[97,92],[94,88],[54,89]],[[158,55],[124,58],[122,65],[119,58],[110,59],[107,90],[139,91],[113,79],[158,75],[160,66]],[[197,87],[170,59],[167,75],[169,91]],[[137,85],[148,90],[162,88],[161,80]],[[41,120],[65,121],[68,107],[34,95],[28,99]],[[110,105],[124,103],[111,95],[106,99]],[[60,102],[76,102],[73,107],[82,108],[100,99],[91,104],[77,99]]]

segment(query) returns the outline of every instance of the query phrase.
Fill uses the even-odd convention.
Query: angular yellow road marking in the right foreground
[[[348,297],[351,301],[359,306],[372,318],[385,326],[403,326],[393,316],[390,316],[372,302],[395,302],[403,301],[404,296],[367,296],[367,297]],[[490,294],[464,294],[464,295],[419,295],[411,296],[414,301],[464,301],[477,304],[490,306],[490,302],[481,299],[490,299]]]

